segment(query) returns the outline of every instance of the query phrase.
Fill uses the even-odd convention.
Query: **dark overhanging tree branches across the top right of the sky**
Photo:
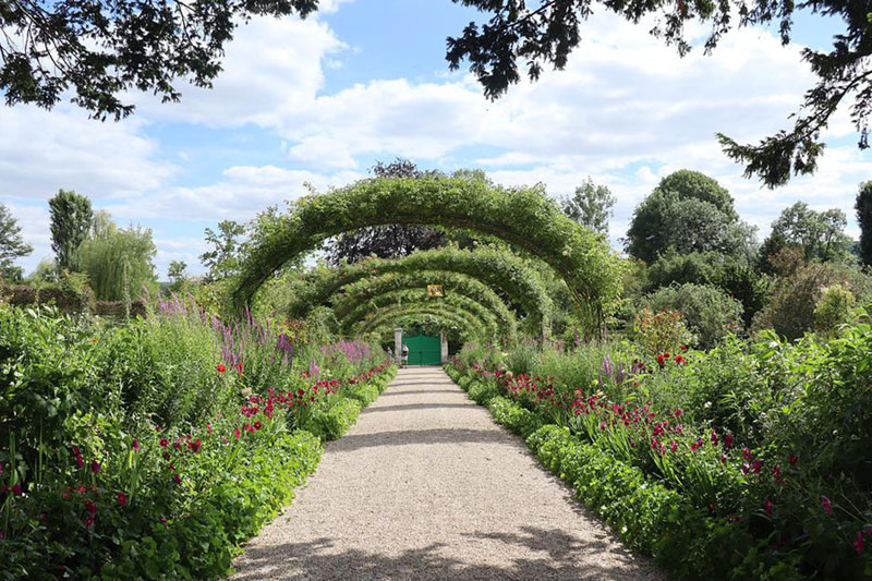
[[[526,63],[531,80],[537,80],[546,64],[564,69],[569,53],[581,41],[581,21],[593,12],[592,0],[549,0],[531,2],[518,0],[453,0],[491,14],[487,24],[471,22],[462,36],[448,38],[446,59],[452,70],[464,60],[470,71],[484,87],[484,94],[498,98],[509,85],[518,83],[521,75],[518,60]],[[741,145],[724,134],[718,134],[726,154],[744,164],[746,175],[758,175],[770,187],[783,185],[791,173],[812,173],[824,149],[819,141],[821,131],[841,101],[851,96],[853,123],[860,134],[859,147],[868,147],[867,124],[872,110],[872,70],[868,68],[872,56],[872,26],[868,1],[851,0],[774,0],[747,2],[652,2],[650,0],[620,0],[604,2],[609,10],[627,20],[639,22],[647,15],[658,17],[651,33],[674,45],[680,56],[687,55],[691,45],[685,37],[688,23],[701,23],[711,29],[704,43],[708,53],[722,36],[732,28],[767,25],[777,22],[782,43],[790,41],[790,27],[798,9],[813,14],[841,19],[845,29],[837,35],[829,52],[802,50],[818,82],[806,93],[801,114],[789,131],[779,131],[758,145]],[[692,29],[697,29],[693,26]]]

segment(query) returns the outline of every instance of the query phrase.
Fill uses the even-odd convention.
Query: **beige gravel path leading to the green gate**
[[[401,370],[234,567],[238,580],[665,579],[439,367]]]

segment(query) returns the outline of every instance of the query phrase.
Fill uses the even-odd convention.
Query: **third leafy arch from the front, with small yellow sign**
[[[388,293],[403,290],[417,291],[419,300],[427,300],[427,285],[438,283],[445,290],[445,296],[432,298],[435,302],[450,302],[453,296],[464,296],[474,301],[500,326],[499,334],[506,334],[513,339],[517,332],[517,319],[506,303],[487,285],[458,273],[439,270],[419,270],[408,274],[389,274],[378,278],[364,279],[346,287],[346,292],[334,305],[337,319],[343,319],[349,313],[355,312],[366,303]],[[412,295],[407,295],[412,299]],[[360,318],[360,317],[358,317]]]

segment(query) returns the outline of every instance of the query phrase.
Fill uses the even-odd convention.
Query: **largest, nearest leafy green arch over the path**
[[[508,190],[484,180],[373,179],[299,199],[252,238],[233,303],[242,310],[261,285],[324,240],[367,226],[464,228],[502,239],[548,263],[597,326],[620,292],[620,264],[606,242],[567,218],[541,189]]]

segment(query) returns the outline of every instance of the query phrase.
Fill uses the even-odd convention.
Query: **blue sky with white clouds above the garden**
[[[678,169],[712,175],[759,238],[785,207],[837,207],[853,218],[872,154],[840,110],[813,177],[771,191],[742,177],[715,133],[754,142],[779,129],[814,77],[804,46],[826,49],[838,21],[800,15],[794,43],[774,32],[730,33],[705,56],[679,58],[602,8],[584,23],[562,71],[523,81],[496,100],[448,70],[445,40],[477,13],[449,0],[322,0],[317,14],[254,19],[227,47],[214,88],[183,82],[180,104],[130,94],[136,113],[99,122],[69,104],[0,106],[0,203],[22,226],[32,271],[52,256],[48,199],[88,196],[121,226],[150,228],[159,278],[171,261],[204,270],[206,228],[246,221],[270,205],[370,175],[378,160],[425,169],[481,168],[497,183],[542,182],[553,196],[591,177],[616,195],[610,239],[620,249],[632,211]],[[704,32],[704,31],[700,31]]]

